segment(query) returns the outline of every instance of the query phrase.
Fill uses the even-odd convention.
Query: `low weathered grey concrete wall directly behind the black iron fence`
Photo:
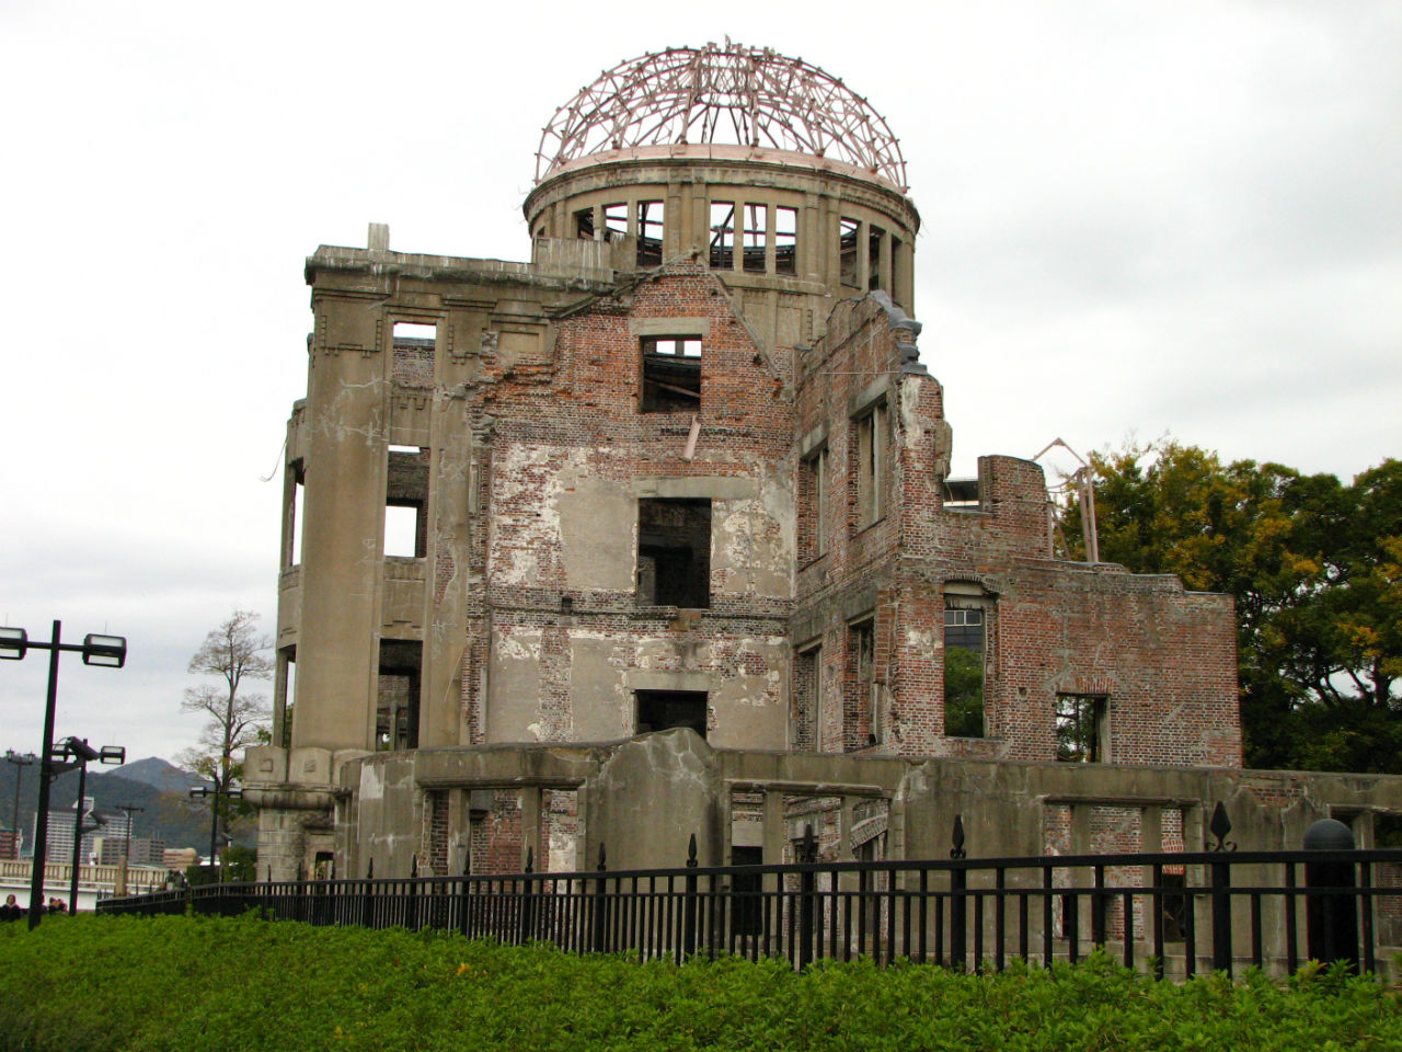
[[[572,793],[572,857],[590,868],[603,844],[610,870],[680,865],[691,835],[702,864],[723,861],[736,842],[760,844],[765,861],[778,861],[802,828],[794,819],[802,800],[837,802],[844,835],[830,839],[823,856],[833,860],[854,857],[845,833],[861,821],[864,801],[869,814],[885,816],[887,858],[948,857],[956,815],[970,857],[1200,851],[1211,843],[1207,821],[1218,801],[1242,850],[1298,849],[1321,818],[1345,821],[1370,844],[1377,816],[1402,816],[1398,776],[714,749],[687,729],[596,746],[379,755],[348,764],[341,785],[350,795],[338,858],[360,871],[373,856],[384,875],[430,854],[416,816],[423,793],[440,790],[536,793],[534,804],[523,798],[527,818],[512,843],[537,858],[566,851],[559,830],[551,833],[541,818],[538,794]],[[450,840],[467,835],[464,816],[447,830]],[[736,837],[754,822],[757,832]],[[381,870],[381,861],[393,868]]]

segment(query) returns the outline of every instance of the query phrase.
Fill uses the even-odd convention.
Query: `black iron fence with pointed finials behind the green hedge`
[[[962,839],[958,837],[956,839]],[[796,846],[816,857],[812,835]],[[1402,950],[1402,850],[799,861],[611,872],[222,884],[107,899],[101,913],[234,915],[439,929],[639,958],[732,954],[803,966],[858,955],[1001,969],[1102,947],[1192,976],[1307,959],[1375,972]],[[372,867],[373,868],[373,867]]]

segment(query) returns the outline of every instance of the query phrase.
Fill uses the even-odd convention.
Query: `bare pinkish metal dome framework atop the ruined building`
[[[580,157],[687,143],[830,157],[907,189],[900,143],[865,98],[802,59],[729,39],[600,73],[545,126],[536,181]]]

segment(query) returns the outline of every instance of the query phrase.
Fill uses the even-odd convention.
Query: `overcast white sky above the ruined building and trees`
[[[174,756],[205,633],[272,627],[303,258],[370,220],[529,258],[555,107],[726,34],[901,137],[956,473],[1057,436],[1345,478],[1402,449],[1395,0],[0,0],[0,624],[130,640],[64,659],[60,736]],[[45,672],[0,665],[0,748],[39,748]]]

